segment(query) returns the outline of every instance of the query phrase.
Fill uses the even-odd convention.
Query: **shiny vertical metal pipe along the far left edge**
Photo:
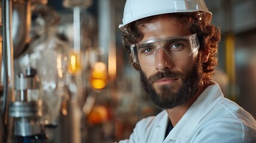
[[[2,119],[4,121],[4,142],[11,141],[12,120],[8,120],[7,105],[13,100],[13,41],[11,37],[12,1],[2,1],[2,64],[4,68],[4,92]]]

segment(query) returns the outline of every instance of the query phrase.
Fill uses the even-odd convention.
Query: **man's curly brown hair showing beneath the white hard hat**
[[[201,12],[195,13],[172,13],[168,14],[173,17],[173,22],[179,22],[181,26],[187,27],[191,30],[192,33],[198,35],[200,42],[199,55],[202,54],[202,51],[209,52],[209,58],[206,63],[203,63],[203,77],[205,81],[209,81],[212,78],[212,75],[215,72],[215,69],[218,65],[218,42],[220,42],[221,33],[220,28],[210,24],[206,21],[206,14]],[[134,21],[127,24],[127,27],[122,31],[122,43],[129,50],[129,57],[131,60],[131,51],[130,46],[134,43],[138,43],[143,39],[143,33],[140,30],[140,26],[143,23],[152,21],[154,15],[151,17],[142,18],[140,20]],[[132,62],[132,60],[131,60]],[[140,66],[132,62],[132,65],[135,69],[140,69]]]

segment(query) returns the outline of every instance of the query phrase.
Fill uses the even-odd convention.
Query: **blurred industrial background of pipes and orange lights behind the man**
[[[122,46],[124,5],[1,1],[0,142],[114,142],[161,111]],[[206,5],[222,32],[214,80],[256,118],[256,1]]]

